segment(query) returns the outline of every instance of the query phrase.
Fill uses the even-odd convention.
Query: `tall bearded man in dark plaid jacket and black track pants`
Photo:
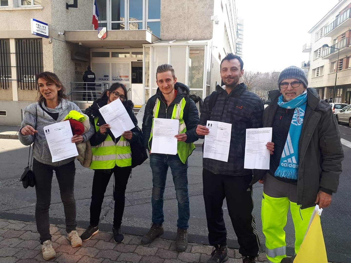
[[[207,120],[232,124],[228,162],[203,159],[204,201],[206,208],[208,241],[215,247],[207,263],[220,263],[228,259],[227,231],[223,220],[223,200],[240,245],[244,263],[255,262],[260,246],[252,215],[252,171],[244,169],[246,129],[261,128],[263,102],[240,83],[244,74],[239,56],[228,54],[221,61],[221,79],[225,88],[216,87],[216,103],[207,96],[201,110],[200,123],[195,127],[199,138],[208,134]],[[210,105],[214,105],[211,111]],[[268,148],[268,147],[267,147]],[[271,149],[273,150],[273,149]]]

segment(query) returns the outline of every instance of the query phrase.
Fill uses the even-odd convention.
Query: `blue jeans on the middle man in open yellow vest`
[[[162,224],[163,194],[165,192],[168,167],[171,168],[174,188],[178,201],[177,227],[187,229],[190,217],[188,193],[188,161],[182,163],[178,155],[150,154],[150,167],[152,170],[152,222]]]

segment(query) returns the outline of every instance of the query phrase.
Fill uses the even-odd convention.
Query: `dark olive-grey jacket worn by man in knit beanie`
[[[264,110],[263,127],[272,127],[278,109],[279,90],[269,93],[272,103]],[[319,190],[336,193],[341,161],[344,151],[340,142],[340,131],[329,103],[319,99],[316,90],[307,88],[307,106],[302,133],[299,140],[299,175],[297,180],[297,204],[301,209],[316,205]],[[254,170],[252,184],[262,176],[264,170]]]

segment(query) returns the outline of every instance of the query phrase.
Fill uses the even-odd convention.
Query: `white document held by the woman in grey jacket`
[[[52,162],[62,161],[78,155],[77,146],[72,142],[72,129],[69,121],[61,121],[44,127]]]

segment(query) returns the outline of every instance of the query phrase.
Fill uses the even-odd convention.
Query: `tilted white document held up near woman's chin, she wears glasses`
[[[99,109],[102,117],[107,124],[110,124],[111,132],[115,138],[118,138],[126,130],[135,127],[131,117],[120,99],[112,101]]]

